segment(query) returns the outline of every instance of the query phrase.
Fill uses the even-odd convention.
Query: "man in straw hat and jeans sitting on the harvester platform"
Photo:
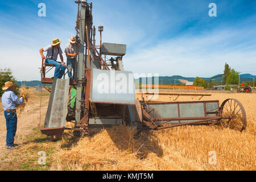
[[[52,44],[50,46],[40,49],[40,55],[42,56],[42,59],[46,59],[46,63],[48,63],[48,64],[55,65],[54,77],[56,77],[56,78],[61,78],[65,73],[65,69],[67,68],[67,66],[65,65],[65,63],[63,61],[60,43],[61,43],[61,40],[53,39]],[[44,57],[44,55],[43,55],[44,51],[47,51],[46,57]],[[61,62],[56,61],[58,55],[60,55]]]

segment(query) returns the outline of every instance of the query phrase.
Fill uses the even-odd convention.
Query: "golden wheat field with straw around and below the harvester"
[[[246,131],[240,133],[219,126],[182,126],[142,133],[138,139],[132,137],[132,129],[123,126],[80,139],[67,131],[58,142],[37,135],[14,154],[22,165],[30,160],[28,166],[40,169],[36,168],[36,154],[47,150],[47,167],[43,168],[47,170],[255,170],[256,94],[212,93],[203,100],[219,100],[221,104],[226,98],[236,98],[245,107]],[[169,98],[160,96],[158,100],[169,101]],[[191,98],[179,98],[179,101],[187,100]],[[33,152],[27,154],[27,151]],[[209,164],[210,151],[216,152],[216,164]],[[13,160],[11,156],[1,160],[0,164],[5,166],[2,169],[27,169]]]

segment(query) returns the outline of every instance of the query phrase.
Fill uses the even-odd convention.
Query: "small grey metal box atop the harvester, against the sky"
[[[104,42],[101,45],[100,53],[103,55],[124,56],[126,53],[126,45]]]

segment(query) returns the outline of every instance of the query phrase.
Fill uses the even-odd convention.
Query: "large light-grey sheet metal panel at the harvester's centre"
[[[116,76],[118,75],[124,78],[122,78],[121,81],[117,81]],[[125,85],[125,87],[120,87],[120,85]],[[117,88],[126,89],[121,89],[122,92],[118,93]],[[92,69],[90,101],[108,104],[135,104],[135,82],[133,73],[129,71]]]

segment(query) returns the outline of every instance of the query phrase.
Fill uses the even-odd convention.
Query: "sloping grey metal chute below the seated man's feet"
[[[68,114],[68,79],[54,78],[44,128],[65,126]]]

